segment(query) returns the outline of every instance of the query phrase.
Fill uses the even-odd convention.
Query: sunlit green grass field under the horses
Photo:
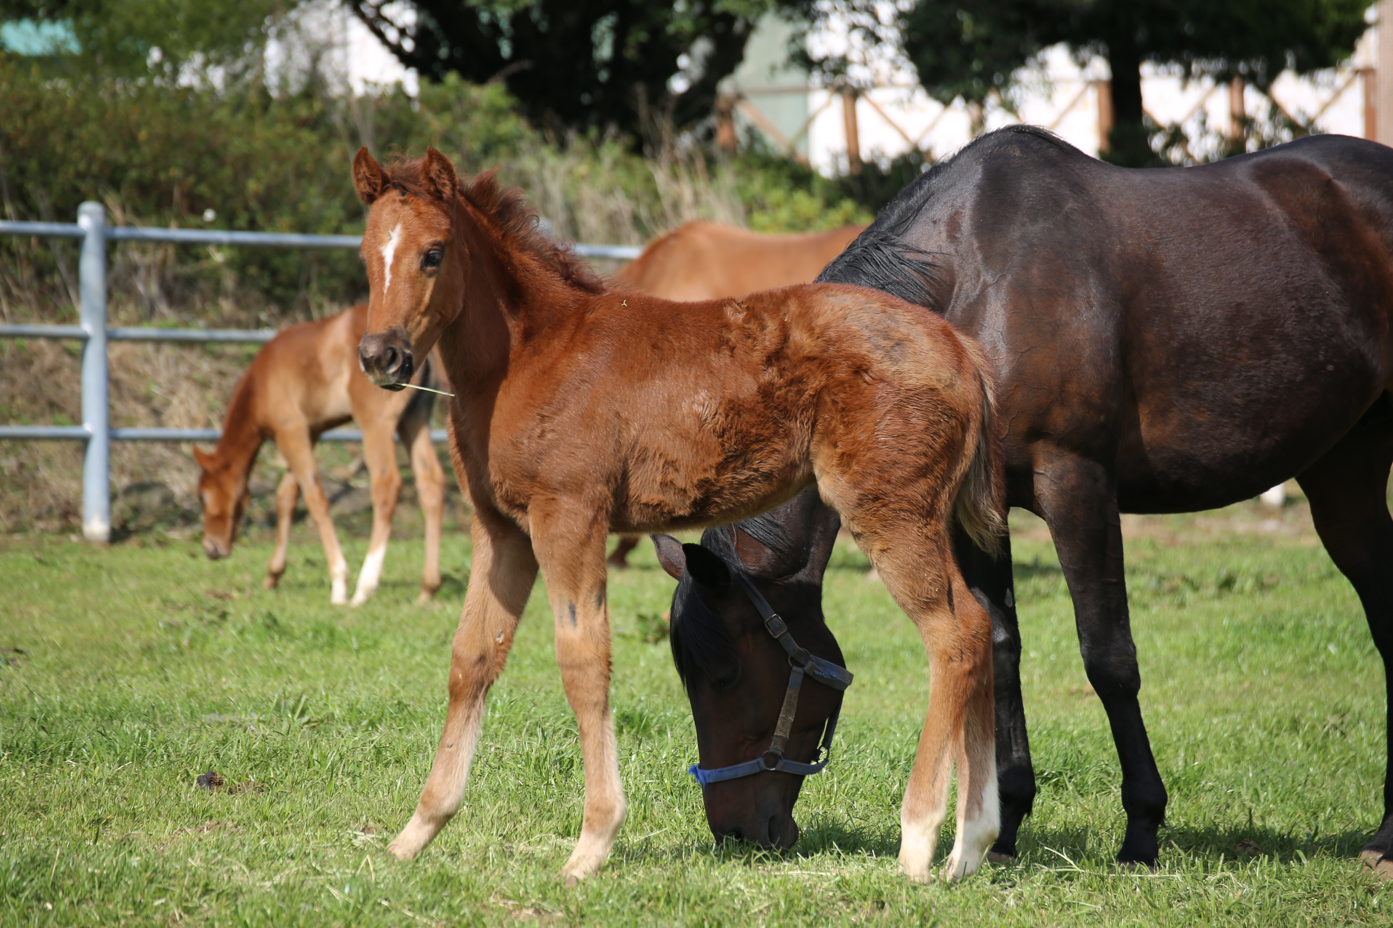
[[[850,541],[827,615],[857,683],[787,857],[713,845],[683,772],[685,698],[649,640],[673,583],[648,545],[612,577],[630,818],[610,864],[567,890],[581,768],[540,590],[464,811],[415,863],[383,854],[443,719],[461,533],[435,607],[411,605],[421,545],[404,533],[383,589],[351,612],[329,605],[304,526],[279,593],[259,586],[259,536],[217,563],[166,534],[109,550],[0,540],[0,924],[1393,922],[1393,895],[1353,860],[1380,813],[1382,668],[1304,508],[1126,523],[1142,707],[1170,789],[1156,872],[1112,863],[1116,754],[1053,548],[1034,518],[1014,525],[1041,794],[1018,863],[953,886],[896,872],[928,672]],[[347,552],[361,562],[361,537]],[[195,787],[209,769],[223,789]]]

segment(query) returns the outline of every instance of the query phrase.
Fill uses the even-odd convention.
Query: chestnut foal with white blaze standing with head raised
[[[1000,530],[976,345],[869,288],[701,303],[607,291],[521,195],[493,173],[461,184],[435,149],[387,170],[362,149],[354,182],[371,206],[362,369],[391,388],[439,345],[457,392],[451,456],[475,508],[444,732],[389,850],[414,857],[458,811],[485,696],[540,566],[585,761],[581,838],[561,872],[593,872],[624,821],[606,536],[731,522],[816,484],[929,651],[900,863],[929,878],[956,761],[964,826],[946,872],[976,870],[997,832],[990,621],[949,537],[954,513],[981,544]]]

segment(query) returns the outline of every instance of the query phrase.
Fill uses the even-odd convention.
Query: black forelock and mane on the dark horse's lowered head
[[[791,555],[798,548],[798,537],[776,515],[779,509],[762,512],[733,526],[706,529],[701,545],[719,557],[730,570],[745,570],[736,554],[736,529],[773,551],[777,557]],[[688,580],[690,582],[690,580]],[[736,641],[720,621],[716,609],[703,601],[702,595],[685,597],[687,609],[681,619],[673,616],[669,643],[673,647],[673,664],[684,686],[694,680],[712,676],[722,665],[729,665],[736,657]]]

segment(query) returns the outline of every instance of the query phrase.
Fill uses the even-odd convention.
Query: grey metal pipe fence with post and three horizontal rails
[[[81,426],[0,426],[0,441],[85,441],[82,456],[82,534],[91,541],[111,537],[110,452],[113,441],[217,441],[217,429],[111,429],[107,398],[109,341],[263,344],[276,337],[274,328],[107,328],[106,243],[173,242],[178,245],[255,245],[262,248],[358,248],[357,235],[298,235],[287,232],[234,232],[195,228],[143,228],[107,225],[100,203],[82,203],[78,221],[0,221],[0,235],[81,239],[78,260],[79,312],[77,326],[0,326],[0,338],[72,338],[82,345]],[[575,245],[582,257],[628,260],[642,250],[637,245]],[[444,430],[432,438],[444,441]],[[361,441],[362,433],[334,429],[320,441]]]

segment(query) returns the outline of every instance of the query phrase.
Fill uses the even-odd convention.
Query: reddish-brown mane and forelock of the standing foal
[[[425,175],[425,161],[423,157],[408,157],[384,166],[387,185],[408,196],[437,199],[435,186]],[[456,193],[493,220],[503,243],[531,255],[563,282],[586,294],[603,294],[605,284],[589,264],[568,246],[557,245],[538,221],[536,210],[528,205],[522,191],[499,184],[497,173],[499,168],[490,168],[469,181],[457,181]]]

